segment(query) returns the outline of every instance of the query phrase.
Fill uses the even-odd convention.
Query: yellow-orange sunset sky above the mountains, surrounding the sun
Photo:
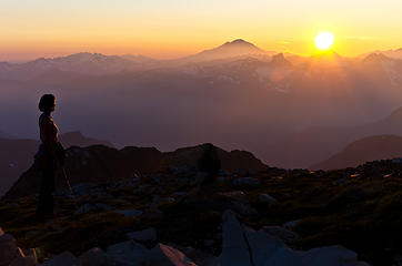
[[[314,53],[319,31],[356,55],[402,47],[402,0],[0,0],[0,61],[76,52],[175,58],[233,39]]]

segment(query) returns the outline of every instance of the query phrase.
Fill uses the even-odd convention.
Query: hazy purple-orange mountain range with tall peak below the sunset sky
[[[51,92],[62,131],[80,129],[117,147],[211,142],[269,165],[308,167],[361,137],[400,134],[396,125],[376,125],[402,106],[395,54],[277,54],[239,39],[174,60],[78,53],[4,62],[1,129],[36,136],[33,110]]]

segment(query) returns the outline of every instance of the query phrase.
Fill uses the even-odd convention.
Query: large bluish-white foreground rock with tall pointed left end
[[[366,266],[342,246],[299,252],[278,237],[240,225],[231,211],[223,214],[222,265],[231,266]]]

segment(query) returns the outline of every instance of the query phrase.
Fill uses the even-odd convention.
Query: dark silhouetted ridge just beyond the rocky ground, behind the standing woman
[[[104,145],[68,149],[66,172],[71,184],[107,183],[130,180],[134,174],[152,174],[181,167],[197,171],[197,162],[204,152],[203,145],[162,153],[154,147],[128,146],[122,150]],[[218,149],[221,168],[228,172],[268,170],[253,154],[244,151],[227,152]],[[13,184],[3,198],[34,195],[39,191],[40,173],[32,166]],[[66,182],[59,184],[67,188]]]

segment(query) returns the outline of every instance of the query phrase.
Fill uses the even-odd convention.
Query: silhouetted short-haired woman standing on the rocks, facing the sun
[[[51,112],[56,108],[56,98],[52,94],[44,94],[39,102],[39,110],[42,114],[39,117],[39,130],[41,145],[38,156],[40,156],[40,170],[42,180],[39,191],[39,203],[37,216],[46,218],[53,215],[53,191],[54,173],[58,163],[57,143],[59,130],[51,117]]]

